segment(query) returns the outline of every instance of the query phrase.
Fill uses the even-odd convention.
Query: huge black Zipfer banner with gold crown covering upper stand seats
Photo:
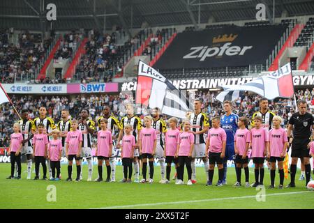
[[[222,29],[179,33],[154,68],[265,64],[285,29],[286,26],[225,26]]]

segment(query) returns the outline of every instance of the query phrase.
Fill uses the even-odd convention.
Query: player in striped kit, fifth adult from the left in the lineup
[[[100,128],[100,120],[105,118],[107,119],[108,123],[107,123],[107,130],[109,130],[112,133],[112,139],[115,140],[119,137],[119,133],[114,134],[114,130],[121,130],[121,125],[120,122],[117,118],[115,118],[114,116],[112,116],[110,114],[110,107],[109,106],[105,106],[103,108],[103,116],[100,116],[97,119],[97,130],[101,130]],[[110,167],[111,167],[111,181],[115,182],[116,181],[116,161],[115,158],[113,157],[114,155],[116,155],[116,148],[115,146],[112,146],[112,157],[109,158],[109,162],[110,162]]]

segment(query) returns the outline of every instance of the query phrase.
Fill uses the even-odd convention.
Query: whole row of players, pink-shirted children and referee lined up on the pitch
[[[121,119],[121,124],[119,123],[119,121],[117,121],[117,118],[109,115],[110,111],[106,107],[104,109],[104,116],[100,117],[97,121],[99,128],[97,132],[98,145],[96,151],[96,155],[98,156],[98,181],[101,181],[103,176],[103,160],[105,160],[105,164],[107,167],[106,181],[115,180],[115,178],[110,178],[110,173],[114,173],[114,171],[112,171],[111,169],[112,158],[110,157],[112,153],[112,139],[118,139],[117,148],[121,148],[121,158],[124,165],[124,182],[130,182],[133,171],[132,162],[135,169],[135,182],[139,182],[138,158],[140,157],[142,158],[142,183],[147,181],[147,161],[149,162],[150,169],[150,176],[148,181],[152,183],[154,176],[154,157],[157,157],[158,162],[160,162],[160,170],[162,174],[162,180],[160,180],[160,183],[169,183],[171,163],[174,162],[178,174],[177,184],[183,183],[185,164],[188,170],[188,185],[192,185],[196,182],[195,170],[193,171],[193,169],[195,169],[195,157],[202,157],[205,171],[207,173],[207,185],[212,184],[215,164],[217,164],[218,166],[219,176],[217,185],[223,185],[225,183],[224,180],[227,170],[227,168],[224,167],[224,164],[226,160],[234,160],[237,163],[237,183],[235,183],[234,185],[241,185],[241,168],[243,167],[246,174],[246,186],[248,186],[248,148],[251,147],[251,156],[253,157],[253,162],[255,164],[255,183],[253,183],[253,186],[255,187],[257,185],[263,184],[263,164],[264,157],[266,156],[267,158],[269,158],[269,162],[271,163],[271,187],[274,187],[274,173],[276,168],[276,161],[278,161],[278,169],[281,178],[280,187],[283,187],[283,159],[287,151],[287,133],[280,127],[281,118],[279,116],[272,116],[271,123],[274,123],[274,125],[273,128],[268,131],[268,129],[264,126],[265,119],[267,119],[267,117],[263,118],[263,116],[257,115],[253,119],[254,128],[249,131],[246,129],[246,126],[248,125],[248,121],[246,120],[246,118],[239,118],[237,115],[232,114],[230,112],[232,108],[231,102],[225,102],[224,109],[226,114],[222,117],[212,118],[212,128],[208,130],[209,120],[206,114],[200,112],[200,100],[195,100],[194,105],[195,113],[190,114],[188,120],[184,121],[181,133],[177,129],[176,118],[170,118],[168,120],[168,122],[170,123],[170,129],[167,130],[165,121],[160,120],[160,118],[158,117],[158,109],[153,109],[153,118],[151,116],[147,116],[144,118],[145,128],[142,128],[140,118],[137,118],[133,115],[133,107],[131,105],[127,106],[127,115]],[[299,105],[302,106],[303,104],[300,103]],[[59,130],[53,130],[54,123],[51,118],[45,117],[45,108],[42,107],[40,108],[40,110],[40,117],[36,118],[33,123],[32,121],[28,120],[27,111],[23,111],[22,120],[19,121],[19,124],[16,124],[14,126],[14,130],[16,131],[14,134],[19,134],[18,132],[20,131],[20,129],[22,133],[20,133],[20,136],[11,136],[10,156],[12,169],[9,178],[13,177],[15,169],[18,170],[18,177],[20,176],[20,152],[23,151],[22,153],[27,154],[28,178],[30,178],[29,172],[31,169],[29,168],[29,161],[31,160],[31,154],[33,154],[36,163],[35,179],[38,178],[40,163],[43,165],[45,178],[45,171],[47,171],[47,167],[45,165],[45,157],[48,157],[47,164],[49,169],[51,169],[50,179],[58,180],[60,173],[59,160],[61,158],[61,151],[63,148],[63,152],[65,151],[65,155],[68,157],[69,160],[67,180],[72,180],[71,174],[74,158],[77,164],[76,180],[80,180],[80,160],[84,156],[87,157],[88,163],[91,162],[91,135],[95,132],[94,122],[88,119],[89,111],[86,109],[82,109],[80,113],[81,119],[79,121],[70,121],[68,119],[67,111],[62,111],[62,120],[58,123]],[[306,114],[306,112],[303,115],[300,113],[299,116],[304,116]],[[295,121],[293,123],[292,118],[290,118],[290,125],[295,125],[294,141],[298,142],[297,146],[293,146],[294,141],[292,141],[292,160],[293,158],[298,157],[301,157],[302,160],[305,160],[304,158],[310,157],[308,150],[310,144],[309,141],[298,141],[299,137],[295,133],[296,127],[297,125],[299,125],[299,123],[295,123]],[[309,140],[311,136],[313,116],[311,116],[311,118],[311,120],[308,120],[308,125],[304,126],[304,128],[310,127],[308,128],[309,134],[307,140]],[[298,117],[297,119],[301,121],[301,118],[299,119]],[[234,128],[220,128],[220,125],[222,127],[225,127],[226,125],[222,124],[228,123],[228,121],[234,124],[236,132],[234,132]],[[304,125],[304,123],[302,123],[302,125]],[[120,129],[119,135],[112,135],[115,127]],[[205,132],[208,132],[207,139],[204,139]],[[288,135],[291,134],[290,128],[288,128],[287,132]],[[233,136],[231,144],[230,140],[228,141],[230,135]],[[49,141],[47,136],[52,137],[53,139]],[[59,136],[61,136],[61,140],[58,139]],[[302,137],[306,139],[306,135],[303,134]],[[31,151],[32,147],[30,146],[31,138],[33,138],[33,151]],[[122,144],[120,144],[121,139]],[[306,144],[306,146],[304,146],[304,144]],[[49,151],[49,153],[47,151]],[[207,157],[209,157],[209,162],[207,160]],[[15,162],[17,162],[17,168],[15,168]],[[167,163],[166,178],[165,162]],[[308,164],[309,163],[306,163],[306,167],[308,167]],[[56,178],[55,169],[57,169]],[[93,166],[91,163],[91,166],[89,165],[89,178],[87,179],[88,181],[91,180],[92,169]],[[308,172],[306,172],[306,174],[306,178],[308,180]],[[294,179],[288,186],[293,187],[293,183]]]

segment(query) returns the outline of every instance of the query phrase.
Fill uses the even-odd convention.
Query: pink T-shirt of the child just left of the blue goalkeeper
[[[227,140],[227,134],[223,128],[211,128],[208,130],[209,152],[221,153],[223,151],[223,141]]]

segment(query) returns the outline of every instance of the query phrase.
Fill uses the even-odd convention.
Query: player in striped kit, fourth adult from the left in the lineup
[[[91,181],[91,176],[93,175],[93,156],[91,154],[91,136],[95,132],[95,123],[89,119],[89,110],[82,109],[80,112],[79,130],[82,131],[83,141],[82,141],[82,157],[87,159],[87,164],[89,168],[89,174],[87,181]],[[82,180],[82,170],[80,174],[80,180]]]

